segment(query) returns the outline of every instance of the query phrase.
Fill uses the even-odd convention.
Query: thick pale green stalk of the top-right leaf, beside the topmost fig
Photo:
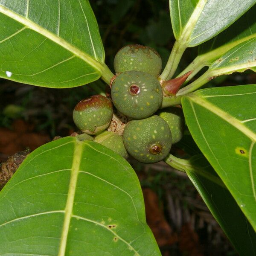
[[[172,78],[178,67],[178,64],[180,63],[181,56],[183,55],[185,49],[186,46],[184,44],[181,44],[179,41],[175,42],[166,67],[164,68],[163,73],[160,75],[160,79],[169,80]]]

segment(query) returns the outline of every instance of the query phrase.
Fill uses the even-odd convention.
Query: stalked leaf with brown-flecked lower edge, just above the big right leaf
[[[207,72],[188,86],[180,89],[177,95],[190,93],[216,76],[230,75],[233,72],[244,72],[247,69],[256,70],[256,37],[233,47],[218,60],[213,62]]]

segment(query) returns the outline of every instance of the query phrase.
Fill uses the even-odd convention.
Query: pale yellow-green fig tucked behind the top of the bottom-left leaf
[[[127,159],[129,156],[125,149],[122,135],[115,134],[112,131],[104,131],[97,135],[94,141],[104,145],[107,148],[110,148],[125,159]]]

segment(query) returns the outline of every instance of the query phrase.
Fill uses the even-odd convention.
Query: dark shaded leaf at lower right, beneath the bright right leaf
[[[256,233],[205,157],[190,160],[186,173],[239,255],[254,255]],[[211,179],[212,178],[212,179]]]

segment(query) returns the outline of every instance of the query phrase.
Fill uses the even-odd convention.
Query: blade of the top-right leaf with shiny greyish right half
[[[214,37],[255,4],[255,0],[169,0],[177,41],[193,47]]]

